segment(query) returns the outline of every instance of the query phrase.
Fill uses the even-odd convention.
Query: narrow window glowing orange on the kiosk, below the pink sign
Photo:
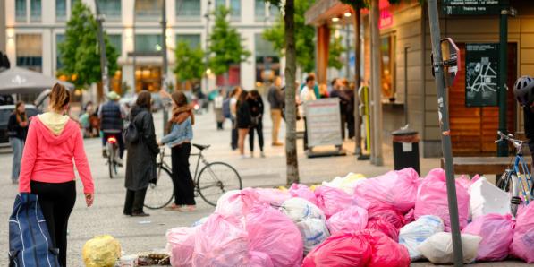
[[[380,39],[380,71],[382,74],[382,99],[395,99],[395,36]]]

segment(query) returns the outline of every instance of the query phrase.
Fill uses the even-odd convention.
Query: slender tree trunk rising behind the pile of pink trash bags
[[[299,183],[299,161],[297,158],[297,122],[295,103],[295,74],[297,51],[295,48],[295,6],[294,0],[286,0],[285,27],[285,162],[287,185]]]

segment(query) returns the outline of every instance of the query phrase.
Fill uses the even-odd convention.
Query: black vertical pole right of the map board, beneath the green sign
[[[503,134],[508,134],[508,127],[506,122],[506,92],[508,87],[506,82],[507,77],[507,63],[508,63],[508,10],[503,8],[501,10],[500,23],[499,23],[499,131]],[[508,156],[508,143],[501,141],[497,143],[497,156]]]

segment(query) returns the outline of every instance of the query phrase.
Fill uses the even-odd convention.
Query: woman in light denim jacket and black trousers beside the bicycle
[[[168,131],[165,131],[169,134],[159,142],[159,145],[166,144],[171,148],[173,165],[174,203],[166,210],[182,211],[182,206],[187,206],[188,211],[195,211],[195,185],[189,169],[191,140],[193,139],[192,125],[195,124],[195,116],[181,91],[175,91],[171,98],[173,99],[173,116],[167,123]]]

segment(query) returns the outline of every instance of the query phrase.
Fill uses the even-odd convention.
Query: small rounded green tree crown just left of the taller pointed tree
[[[181,41],[174,51],[176,66],[174,73],[180,82],[202,79],[204,75],[204,50],[198,47],[191,48],[190,44]]]

